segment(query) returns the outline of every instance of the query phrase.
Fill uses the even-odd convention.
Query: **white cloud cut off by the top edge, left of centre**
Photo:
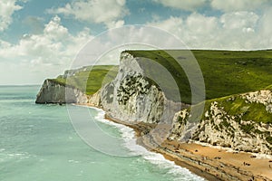
[[[49,9],[48,12],[72,15],[76,20],[116,27],[121,25],[121,18],[129,14],[125,4],[126,0],[80,0],[57,9]]]

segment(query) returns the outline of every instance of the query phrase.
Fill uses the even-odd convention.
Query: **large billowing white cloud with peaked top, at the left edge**
[[[0,41],[0,56],[6,59],[21,56],[21,60],[30,61],[43,58],[43,62],[65,63],[62,60],[71,61],[75,53],[92,36],[89,29],[72,35],[61,24],[61,18],[55,16],[44,25],[44,32],[40,34],[24,34],[17,44]]]

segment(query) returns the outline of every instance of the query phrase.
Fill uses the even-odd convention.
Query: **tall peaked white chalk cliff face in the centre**
[[[165,97],[144,77],[137,58],[122,52],[120,70],[102,88],[101,100],[103,109],[115,119],[154,123],[162,118]]]

